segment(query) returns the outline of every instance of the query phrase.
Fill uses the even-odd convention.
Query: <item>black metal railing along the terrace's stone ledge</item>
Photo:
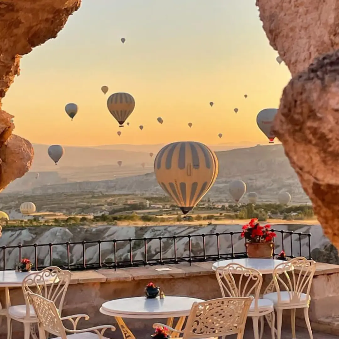
[[[278,245],[279,250],[286,252],[287,257],[304,256],[311,259],[310,233],[272,231],[277,234],[275,238],[276,245]],[[241,232],[226,232],[154,238],[2,246],[0,247],[0,270],[14,270],[13,258],[17,259],[15,260],[16,263],[20,262],[22,258],[29,258],[33,263],[33,268],[38,270],[48,266],[59,266],[72,271],[98,268],[114,268],[116,270],[117,268],[124,267],[177,264],[182,262],[191,264],[192,262],[246,258],[245,240],[240,240],[240,234]],[[235,237],[238,237],[240,243],[234,243]],[[170,246],[168,246],[168,242],[171,242]],[[178,248],[178,242],[180,243],[180,248]],[[223,246],[221,242],[228,245]],[[150,249],[150,244],[154,247],[156,246],[155,243],[158,244],[157,249]],[[303,243],[305,244],[304,247],[306,247],[304,251]],[[128,253],[127,251],[121,253],[126,248],[126,245]],[[105,248],[103,249],[103,247]],[[226,251],[225,247],[227,247]],[[235,247],[243,248],[244,251],[237,252]],[[88,248],[92,248],[92,252],[97,251],[97,260],[95,262],[93,262],[93,257],[86,257],[86,250]],[[275,250],[278,248],[276,247]],[[81,252],[80,256],[79,251]],[[54,258],[55,252],[61,253],[63,259]],[[78,252],[78,255],[73,252]],[[103,252],[108,253],[105,259],[102,259]],[[274,252],[274,256],[277,254]],[[8,258],[12,259],[11,265],[7,263]]]

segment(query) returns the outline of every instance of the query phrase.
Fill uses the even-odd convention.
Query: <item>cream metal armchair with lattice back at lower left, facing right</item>
[[[56,339],[107,339],[103,336],[107,328],[111,328],[112,331],[115,331],[115,327],[112,325],[102,325],[85,328],[84,330],[77,330],[76,327],[81,318],[85,318],[85,320],[89,319],[87,314],[77,314],[61,318],[53,301],[32,292],[27,292],[27,297],[31,300],[37,315],[40,339],[46,339],[46,333],[57,336]],[[71,321],[73,330],[66,328],[62,323],[63,320]],[[91,331],[95,333],[92,333]],[[66,332],[71,334],[66,335]]]

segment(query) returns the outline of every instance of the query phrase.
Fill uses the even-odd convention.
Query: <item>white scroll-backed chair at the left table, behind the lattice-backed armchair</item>
[[[58,305],[59,314],[61,314],[70,281],[71,272],[60,270],[59,267],[55,266],[47,267],[40,272],[33,272],[27,275],[22,281],[25,305],[8,307],[7,339],[12,339],[12,320],[23,323],[24,339],[29,339],[30,333],[36,338],[34,324],[37,323],[37,317],[33,306],[29,304],[27,292],[35,292],[48,300],[52,300]]]

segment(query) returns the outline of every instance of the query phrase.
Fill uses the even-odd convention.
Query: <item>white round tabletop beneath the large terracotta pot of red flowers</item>
[[[281,264],[282,260],[277,259],[255,259],[255,258],[244,258],[244,259],[229,259],[229,260],[220,260],[213,263],[212,268],[215,271],[218,267],[226,266],[230,263],[236,263],[247,268],[254,268],[258,270],[261,274],[272,274],[274,268]]]

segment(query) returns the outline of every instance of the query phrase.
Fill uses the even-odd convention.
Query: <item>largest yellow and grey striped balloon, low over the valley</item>
[[[173,198],[182,213],[187,214],[215,182],[218,159],[200,142],[173,142],[157,154],[154,172],[163,190]]]

